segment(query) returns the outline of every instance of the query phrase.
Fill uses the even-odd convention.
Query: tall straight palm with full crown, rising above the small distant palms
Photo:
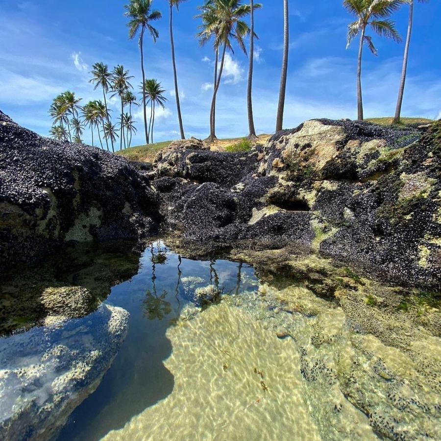
[[[150,22],[159,20],[162,14],[157,10],[152,10],[153,0],[130,0],[129,4],[126,4],[124,8],[127,10],[125,16],[130,20],[127,23],[129,27],[129,37],[132,39],[138,32],[139,36],[139,49],[141,52],[141,72],[143,74],[143,105],[144,105],[144,129],[146,132],[146,142],[148,144],[148,131],[147,131],[147,109],[146,109],[146,90],[144,89],[144,84],[146,82],[146,75],[144,72],[144,32],[146,29],[156,43],[156,39],[159,37],[159,32],[150,25]]]

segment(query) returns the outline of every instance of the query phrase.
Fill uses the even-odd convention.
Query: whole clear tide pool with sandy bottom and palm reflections
[[[139,268],[133,253],[94,256],[57,274],[57,286],[69,280],[95,298],[90,314],[60,334],[88,320],[82,339],[93,338],[94,302],[104,298],[128,311],[128,331],[59,440],[440,439],[433,305],[416,319],[388,303],[395,288],[355,283],[350,272],[332,295],[320,282],[318,295],[314,270],[305,283],[245,263],[184,259],[162,241],[147,247]],[[127,264],[117,279],[133,276],[114,284],[106,261]],[[45,326],[27,333],[36,329]]]

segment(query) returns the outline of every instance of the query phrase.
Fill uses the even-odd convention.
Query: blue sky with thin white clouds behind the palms
[[[213,53],[200,48],[194,19],[202,0],[183,3],[174,14],[176,62],[182,115],[187,136],[208,135]],[[156,22],[160,37],[146,41],[147,77],[157,78],[169,98],[157,114],[155,141],[178,137],[166,0],[155,0],[163,13]],[[408,82],[403,116],[441,118],[441,2],[416,3]],[[123,1],[0,0],[0,109],[42,135],[48,135],[50,102],[64,90],[73,90],[85,103],[101,98],[88,83],[90,68],[103,61],[110,68],[123,64],[141,81],[137,40],[129,40]],[[254,115],[256,130],[271,133],[280,81],[283,43],[281,0],[263,1],[255,13],[256,42]],[[407,8],[395,14],[404,36]],[[355,118],[357,42],[345,49],[346,25],[351,18],[340,0],[290,0],[290,60],[284,127],[311,118]],[[375,57],[365,51],[363,88],[365,116],[389,116],[395,109],[403,44],[374,37]],[[367,48],[366,48],[367,49]],[[221,84],[217,134],[246,135],[247,59],[239,49],[227,57]],[[137,90],[137,87],[136,87]],[[117,118],[118,102],[111,103]],[[135,109],[138,134],[132,144],[142,144],[141,112]],[[84,139],[90,142],[89,131]]]

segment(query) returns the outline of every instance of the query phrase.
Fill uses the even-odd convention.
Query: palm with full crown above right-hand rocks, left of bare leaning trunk
[[[356,17],[355,22],[348,25],[347,45],[349,47],[352,40],[360,34],[360,44],[358,49],[357,63],[357,108],[358,120],[363,121],[363,98],[361,87],[361,67],[363,44],[366,43],[370,51],[377,55],[377,49],[372,42],[372,37],[366,35],[366,28],[370,28],[382,37],[392,38],[396,42],[401,41],[398,31],[395,29],[395,23],[389,20],[393,12],[407,0],[344,0],[343,6],[353,16]]]

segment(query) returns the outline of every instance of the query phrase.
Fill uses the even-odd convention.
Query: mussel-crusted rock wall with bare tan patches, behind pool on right
[[[440,138],[440,122],[313,120],[249,152],[169,148],[149,173],[169,227],[189,241],[296,245],[437,289]]]

